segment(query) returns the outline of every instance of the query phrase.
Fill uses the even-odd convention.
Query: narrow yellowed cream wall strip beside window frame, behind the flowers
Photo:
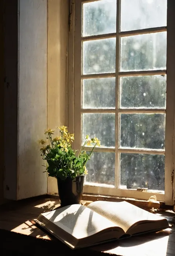
[[[51,129],[67,125],[68,11],[69,0],[48,0],[48,127]],[[48,193],[56,192],[56,179],[49,177]]]

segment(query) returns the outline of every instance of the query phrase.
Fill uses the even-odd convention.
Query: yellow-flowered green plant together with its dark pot
[[[61,136],[52,138],[55,130],[48,129],[44,134],[46,140],[40,140],[42,145],[40,152],[44,160],[47,161],[46,171],[48,176],[55,177],[58,183],[58,194],[61,206],[79,204],[83,194],[84,177],[88,174],[86,163],[96,146],[100,146],[100,141],[94,137],[85,137],[80,153],[72,149],[71,143],[74,134],[70,134],[66,126],[56,127],[60,130]],[[47,141],[49,144],[46,146]],[[89,154],[84,150],[85,146],[93,148]]]

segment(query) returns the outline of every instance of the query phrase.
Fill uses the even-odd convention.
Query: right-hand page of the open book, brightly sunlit
[[[127,230],[138,221],[156,221],[164,219],[126,201],[96,201],[90,203],[87,207],[119,225],[124,232],[127,232]]]

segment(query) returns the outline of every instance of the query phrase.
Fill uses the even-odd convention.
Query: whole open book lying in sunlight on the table
[[[72,249],[169,227],[168,221],[128,202],[68,205],[35,220]]]

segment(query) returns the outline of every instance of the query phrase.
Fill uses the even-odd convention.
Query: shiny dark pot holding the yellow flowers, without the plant
[[[73,179],[67,177],[65,180],[57,178],[61,207],[71,204],[80,204],[83,194],[84,177],[85,176],[77,176]]]

